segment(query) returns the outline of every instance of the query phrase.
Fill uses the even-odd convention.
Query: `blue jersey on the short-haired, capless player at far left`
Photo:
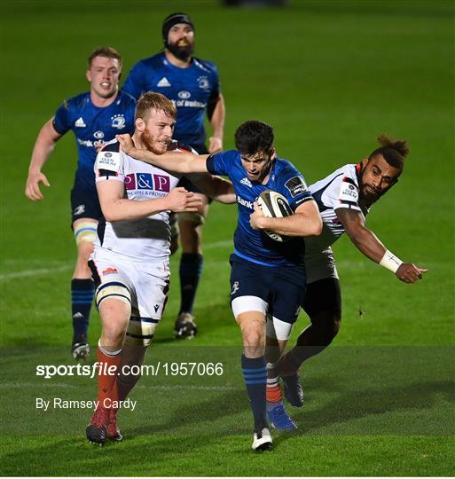
[[[65,100],[59,106],[52,124],[60,135],[68,130],[75,134],[78,150],[75,185],[96,191],[93,165],[98,149],[117,134],[133,134],[135,108],[136,100],[122,91],[109,106],[94,106],[90,92]]]

